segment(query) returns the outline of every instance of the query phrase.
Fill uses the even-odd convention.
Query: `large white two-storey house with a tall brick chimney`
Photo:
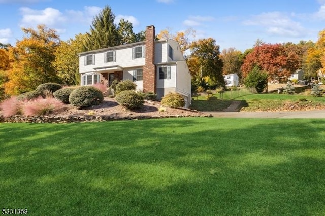
[[[143,42],[80,53],[81,85],[133,80],[138,91],[155,92],[158,99],[169,92],[180,93],[189,107],[191,75],[178,42],[154,39],[151,25]]]

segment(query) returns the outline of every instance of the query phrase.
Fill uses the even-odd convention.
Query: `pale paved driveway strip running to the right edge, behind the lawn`
[[[205,112],[218,118],[306,118],[325,119],[325,110],[282,112]]]

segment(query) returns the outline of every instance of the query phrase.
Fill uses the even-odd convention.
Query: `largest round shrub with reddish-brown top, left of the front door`
[[[103,93],[93,86],[81,86],[76,88],[69,96],[69,102],[77,107],[99,105],[103,100]]]

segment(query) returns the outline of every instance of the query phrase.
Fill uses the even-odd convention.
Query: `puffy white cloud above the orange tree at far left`
[[[29,27],[38,24],[45,24],[48,27],[55,27],[58,23],[66,21],[66,17],[54,8],[34,10],[27,7],[19,9],[22,14],[21,26]]]

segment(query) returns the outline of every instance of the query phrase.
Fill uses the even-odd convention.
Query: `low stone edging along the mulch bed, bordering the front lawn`
[[[140,119],[163,119],[163,118],[179,118],[179,117],[212,117],[211,114],[206,115],[174,115],[174,116],[11,116],[4,118],[0,116],[0,122],[7,123],[74,123],[74,122],[104,122],[116,120],[140,120]]]

